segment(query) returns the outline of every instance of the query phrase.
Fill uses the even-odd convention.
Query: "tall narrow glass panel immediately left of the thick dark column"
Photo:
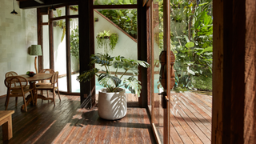
[[[70,19],[71,92],[80,93],[79,75],[79,29],[78,18]]]

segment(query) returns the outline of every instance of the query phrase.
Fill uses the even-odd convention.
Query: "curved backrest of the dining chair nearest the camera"
[[[10,90],[23,90],[27,86],[26,78],[21,76],[10,76],[5,79],[5,85]]]

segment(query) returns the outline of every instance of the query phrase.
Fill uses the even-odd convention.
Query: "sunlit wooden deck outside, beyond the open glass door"
[[[170,113],[171,143],[210,143],[212,97],[191,92],[172,94],[175,96],[170,99],[172,112]],[[159,96],[156,94],[155,98],[159,98]],[[155,109],[155,111],[154,122],[158,128],[158,134],[162,138],[162,108]]]

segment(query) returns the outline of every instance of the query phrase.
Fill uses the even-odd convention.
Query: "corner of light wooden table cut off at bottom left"
[[[2,140],[10,140],[13,138],[13,122],[11,114],[14,110],[1,110],[0,111],[0,126],[2,126]]]

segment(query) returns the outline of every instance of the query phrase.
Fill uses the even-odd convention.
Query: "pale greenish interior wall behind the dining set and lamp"
[[[6,94],[6,72],[35,71],[34,56],[28,54],[28,48],[38,43],[37,11],[20,10],[14,2],[17,15],[10,14],[13,1],[0,0],[0,95]]]

